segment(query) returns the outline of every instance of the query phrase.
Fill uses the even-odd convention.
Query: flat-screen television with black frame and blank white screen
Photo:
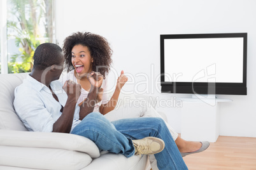
[[[247,95],[247,33],[160,35],[162,93]]]

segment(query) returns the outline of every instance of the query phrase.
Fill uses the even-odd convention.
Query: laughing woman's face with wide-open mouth
[[[72,64],[78,76],[92,71],[93,58],[90,56],[90,51],[87,46],[78,44],[72,48]]]

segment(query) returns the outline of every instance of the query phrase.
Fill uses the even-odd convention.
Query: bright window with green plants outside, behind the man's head
[[[1,72],[31,72],[36,47],[43,42],[55,42],[54,0],[1,3]]]

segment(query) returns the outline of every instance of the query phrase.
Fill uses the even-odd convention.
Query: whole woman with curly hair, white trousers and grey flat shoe
[[[122,71],[117,80],[117,86],[113,96],[108,100],[108,96],[103,93],[107,89],[106,75],[110,71],[112,50],[108,41],[99,35],[90,32],[76,32],[71,36],[66,37],[63,45],[65,66],[68,74],[63,76],[62,82],[71,79],[72,81],[81,84],[82,95],[78,100],[78,104],[82,103],[87,98],[90,82],[87,79],[87,74],[91,71],[100,72],[104,77],[103,86],[97,95],[97,105],[94,112],[100,112],[106,115],[113,110],[117,105],[120,90],[127,82],[127,77]],[[118,119],[131,117],[160,117],[155,109],[145,106],[144,108],[125,108],[126,110],[121,114],[122,117]],[[118,112],[118,110],[115,110]],[[118,113],[119,114],[119,113]],[[107,114],[107,115],[111,115]],[[108,119],[108,116],[106,117]],[[115,121],[115,120],[110,120]],[[166,123],[167,124],[167,123]],[[209,142],[185,141],[181,139],[176,132],[167,124],[167,128],[171,132],[173,139],[179,148],[181,155],[194,154],[202,152],[210,145]]]

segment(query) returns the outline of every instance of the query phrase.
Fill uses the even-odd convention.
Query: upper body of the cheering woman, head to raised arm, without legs
[[[78,100],[78,104],[82,104],[82,101],[87,98],[90,87],[87,74],[94,70],[95,72],[100,72],[104,77],[103,86],[98,93],[94,112],[100,112],[104,115],[113,110],[117,105],[120,90],[125,82],[127,82],[127,77],[122,71],[120,77],[118,77],[115,92],[111,99],[108,100],[108,95],[103,93],[103,90],[107,89],[106,75],[110,71],[112,63],[112,50],[108,41],[96,34],[77,32],[65,39],[63,51],[68,74],[64,75],[62,80],[65,82],[70,79],[82,86],[82,95]]]

